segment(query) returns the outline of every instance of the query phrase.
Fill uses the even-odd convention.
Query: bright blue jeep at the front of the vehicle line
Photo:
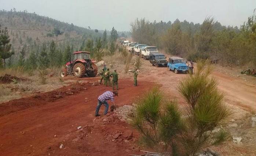
[[[173,70],[175,74],[179,72],[187,73],[189,70],[186,61],[180,57],[169,57],[167,67],[169,71]]]

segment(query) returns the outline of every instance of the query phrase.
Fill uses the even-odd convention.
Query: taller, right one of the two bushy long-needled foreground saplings
[[[187,115],[182,144],[190,155],[211,144],[212,130],[220,127],[230,115],[216,80],[209,77],[211,71],[209,60],[197,60],[194,74],[178,85],[178,91],[186,101]]]

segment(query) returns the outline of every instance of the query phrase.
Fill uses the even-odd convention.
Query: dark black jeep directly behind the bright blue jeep
[[[164,66],[167,67],[166,57],[162,53],[150,53],[149,62],[156,67]]]

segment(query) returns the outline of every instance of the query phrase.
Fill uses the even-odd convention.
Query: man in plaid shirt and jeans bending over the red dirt
[[[106,115],[107,111],[109,110],[109,104],[107,103],[107,100],[111,100],[112,102],[114,102],[114,97],[115,96],[118,96],[117,91],[113,91],[113,92],[106,91],[103,94],[101,94],[98,97],[98,105],[96,107],[95,116],[100,116],[99,115],[99,108],[102,104],[105,105],[105,107],[106,107],[105,112],[104,112],[104,115]]]

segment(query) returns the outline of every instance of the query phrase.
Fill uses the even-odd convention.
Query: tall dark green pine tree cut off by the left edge
[[[3,59],[4,67],[6,67],[6,59],[14,55],[14,51],[11,51],[11,44],[9,44],[10,40],[7,27],[1,30],[0,25],[0,57]],[[0,62],[2,62],[1,59]]]

